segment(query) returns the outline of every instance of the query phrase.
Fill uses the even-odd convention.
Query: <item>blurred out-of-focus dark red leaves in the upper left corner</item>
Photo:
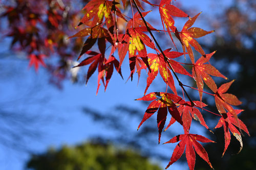
[[[82,45],[79,39],[72,44],[67,41],[79,16],[70,10],[71,1],[15,0],[2,5],[5,11],[0,17],[7,19],[7,27],[1,31],[12,38],[11,49],[24,52],[36,71],[40,65],[46,67],[57,84],[67,78],[72,58]],[[53,56],[59,56],[57,63],[47,62]]]

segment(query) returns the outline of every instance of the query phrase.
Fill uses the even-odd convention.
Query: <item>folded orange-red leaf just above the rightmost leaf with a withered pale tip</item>
[[[222,84],[218,88],[218,90],[216,91],[214,96],[215,96],[216,107],[217,107],[219,113],[221,113],[221,114],[226,113],[226,110],[227,110],[228,112],[230,112],[233,115],[234,118],[236,118],[236,120],[238,122],[238,116],[237,116],[236,112],[234,111],[234,109],[232,108],[232,106],[230,106],[230,105],[238,106],[238,105],[241,105],[242,102],[240,102],[238,100],[236,95],[225,93],[229,89],[229,87],[231,86],[231,84],[233,82],[234,82],[234,80],[232,80],[228,83]],[[239,124],[239,122],[238,122],[238,124]]]

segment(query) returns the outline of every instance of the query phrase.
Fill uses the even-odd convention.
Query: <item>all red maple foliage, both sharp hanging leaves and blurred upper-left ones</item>
[[[19,43],[19,50],[26,50],[28,58],[30,59],[29,65],[34,65],[36,70],[39,65],[46,66],[44,60],[50,56],[50,53],[62,54],[72,60],[72,56],[74,54],[63,49],[65,49],[69,44],[74,45],[73,49],[77,48],[77,46],[82,45],[82,41],[79,38],[88,37],[81,47],[77,60],[87,55],[89,55],[89,57],[86,57],[79,64],[74,65],[74,67],[90,65],[87,72],[86,83],[88,83],[89,78],[98,68],[96,93],[98,93],[100,81],[104,86],[104,90],[106,90],[112,77],[114,67],[122,77],[121,65],[127,53],[130,63],[131,80],[133,80],[133,75],[136,73],[136,69],[138,78],[140,77],[142,69],[147,71],[148,77],[146,80],[144,96],[137,100],[152,102],[147,107],[138,129],[148,118],[158,111],[157,126],[159,132],[159,143],[168,112],[172,115],[172,118],[165,130],[167,130],[176,121],[182,125],[184,130],[184,134],[177,135],[165,142],[179,142],[166,168],[181,157],[185,147],[185,154],[189,169],[194,169],[195,167],[195,151],[212,168],[208,154],[198,141],[214,141],[189,132],[193,118],[200,122],[200,124],[207,130],[212,132],[205,123],[203,118],[204,114],[210,113],[221,117],[216,128],[224,127],[225,146],[223,154],[230,143],[229,130],[239,140],[242,149],[243,143],[241,130],[244,130],[248,135],[249,132],[237,115],[242,110],[237,110],[233,107],[240,105],[241,102],[235,95],[226,93],[233,81],[222,84],[217,88],[217,85],[211,76],[221,77],[224,79],[227,78],[209,62],[210,58],[214,56],[216,51],[210,54],[205,54],[203,48],[195,39],[214,32],[192,27],[201,13],[198,13],[194,17],[190,17],[184,11],[176,7],[175,1],[172,0],[156,1],[156,4],[152,4],[147,0],[92,0],[84,6],[82,9],[84,11],[84,16],[79,22],[77,21],[77,28],[80,29],[80,31],[69,37],[69,39],[76,38],[77,41],[64,44],[61,48],[58,48],[57,44],[61,42],[63,43],[66,38],[64,34],[65,30],[60,30],[59,26],[63,19],[66,21],[71,20],[67,16],[63,18],[63,13],[65,11],[67,12],[68,9],[61,5],[61,3],[52,3],[53,1],[50,0],[47,1],[50,8],[45,9],[45,14],[47,15],[48,20],[48,22],[45,23],[42,21],[42,16],[40,16],[45,15],[42,13],[42,10],[29,6],[29,2],[29,0],[17,0],[17,3],[19,4],[17,8],[7,6],[6,12],[2,14],[2,16],[7,16],[9,22],[12,23],[9,34],[7,34],[7,36],[13,37],[12,45]],[[68,2],[69,1],[66,3]],[[128,6],[131,7],[131,16],[127,16],[126,13],[124,13],[125,10],[129,9],[127,8]],[[151,11],[141,12],[141,10],[144,10],[144,6],[150,6],[153,12],[159,12],[159,19],[161,19],[163,30],[160,28],[154,28],[145,20],[144,17]],[[29,10],[32,10],[33,13],[29,13]],[[134,13],[134,10],[137,10],[137,12]],[[23,18],[26,18],[26,22],[21,26],[18,24],[21,20],[19,13],[22,14]],[[60,13],[62,13],[62,15]],[[71,14],[69,17],[77,17],[76,14],[77,13]],[[175,17],[185,17],[187,20],[181,31],[179,31],[175,26]],[[126,28],[123,31],[119,29],[119,22],[126,22]],[[70,23],[70,25],[72,25],[72,23]],[[47,27],[51,33],[47,36],[38,34],[40,27]],[[167,32],[173,44],[170,44],[169,48],[163,51],[153,32]],[[178,41],[175,41],[174,37],[176,37]],[[98,46],[97,52],[95,50],[95,46]],[[108,50],[109,47],[111,47],[110,50]],[[171,51],[172,47],[174,47],[175,51]],[[182,52],[178,50],[179,47],[182,48]],[[155,54],[147,53],[149,50],[155,51]],[[197,53],[201,55],[199,59],[197,59],[197,55],[195,55]],[[189,56],[190,63],[187,63],[186,55]],[[177,58],[180,59],[181,56],[184,56],[186,63],[181,63],[178,62],[178,60],[175,60]],[[117,57],[119,58],[119,61],[117,60]],[[189,70],[189,68],[184,65],[190,65],[191,69]],[[61,71],[65,70],[65,64],[58,66],[55,70],[58,70],[58,77],[60,79],[66,76],[66,71]],[[158,72],[160,72],[160,76],[166,84],[165,92],[158,91],[146,94],[148,88],[158,75]],[[191,74],[189,72],[191,72]],[[183,84],[180,81],[178,74],[187,76],[189,80],[194,78],[197,88]],[[178,81],[178,87],[181,89],[182,93],[178,93],[178,87],[175,85],[175,81]],[[204,90],[204,83],[213,93],[208,92],[208,89]],[[193,101],[188,95],[185,87],[198,90],[199,101]],[[172,93],[167,92],[168,88]],[[219,113],[214,113],[204,108],[207,104],[202,102],[203,93],[208,94],[215,99]],[[202,110],[202,112],[200,110]],[[238,129],[234,126],[237,126]]]

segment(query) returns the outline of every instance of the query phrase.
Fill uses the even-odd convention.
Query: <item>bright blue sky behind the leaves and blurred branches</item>
[[[220,2],[216,1],[186,0],[181,2],[185,7],[196,6],[198,12],[203,11],[205,13],[210,13],[207,8],[211,4],[216,7],[223,7],[220,6]],[[225,5],[229,2],[231,1],[225,1]],[[212,6],[212,8],[216,8],[215,6]],[[0,53],[8,52],[8,39],[2,40],[0,43],[2,46]],[[8,53],[8,55],[12,55],[10,52]],[[24,57],[24,54],[18,54],[17,56]],[[62,144],[76,144],[98,134],[114,135],[113,132],[106,131],[104,125],[95,124],[90,117],[84,115],[81,111],[82,107],[96,108],[101,112],[110,111],[118,104],[145,109],[145,106],[142,106],[139,101],[134,101],[134,99],[143,95],[146,81],[145,72],[142,72],[138,86],[137,75],[133,82],[129,80],[125,83],[127,77],[129,77],[129,72],[125,71],[129,70],[126,60],[123,63],[126,66],[122,67],[124,80],[120,78],[117,72],[114,72],[106,92],[103,91],[103,87],[100,87],[97,96],[96,74],[89,80],[87,86],[65,81],[63,82],[63,89],[59,90],[48,83],[48,73],[43,68],[40,68],[37,73],[33,68],[28,69],[27,60],[4,58],[0,60],[0,64],[3,66],[2,70],[5,70],[4,74],[0,76],[0,108],[9,112],[41,118],[41,122],[34,125],[35,129],[42,132],[41,136],[25,140],[25,145],[37,152],[44,152],[50,146],[60,147]],[[155,81],[148,92],[160,91],[161,89],[158,87],[159,83]],[[137,126],[134,125],[134,128],[137,129]],[[200,130],[195,129],[194,131]],[[175,145],[172,146],[173,149]],[[166,148],[159,147],[163,151],[167,150]],[[170,148],[168,147],[168,149]],[[166,151],[166,153],[170,157],[172,151]],[[1,169],[23,169],[24,161],[28,158],[27,153],[0,145]],[[163,166],[166,164],[167,162],[162,163]],[[179,163],[175,163],[170,168],[180,169],[180,166]],[[187,167],[186,164],[185,167]]]

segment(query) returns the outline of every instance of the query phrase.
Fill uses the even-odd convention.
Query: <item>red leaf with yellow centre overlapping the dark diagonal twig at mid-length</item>
[[[168,62],[170,63],[170,65],[172,65],[174,71],[191,77],[191,75],[186,71],[186,69],[184,67],[182,67],[178,62],[170,59],[170,58],[180,57],[181,55],[183,55],[183,53],[169,52],[170,50],[171,50],[171,48],[168,48],[167,50],[163,51],[163,53],[168,58]],[[148,75],[147,85],[146,85],[146,89],[144,91],[144,95],[145,95],[148,87],[150,87],[151,83],[158,75],[158,70],[160,71],[160,75],[161,75],[163,81],[166,84],[168,84],[170,89],[172,89],[175,94],[177,94],[172,73],[170,72],[169,69],[167,69],[167,68],[169,68],[169,65],[165,62],[163,55],[162,54],[159,54],[159,55],[152,54],[152,53],[148,54],[148,63],[150,65],[151,71],[148,71],[148,73],[147,73],[147,75]],[[141,68],[144,68],[144,67],[141,67]]]

